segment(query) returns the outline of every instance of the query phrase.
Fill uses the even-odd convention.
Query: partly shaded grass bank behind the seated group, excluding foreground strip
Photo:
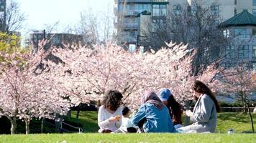
[[[253,119],[256,130],[256,114],[253,114]],[[71,121],[76,122],[76,111],[71,112]],[[97,132],[99,129],[97,112],[80,112],[78,122],[83,125],[84,132]],[[234,129],[236,133],[251,131],[249,116],[242,113],[219,113],[216,132],[227,133],[229,129]]]

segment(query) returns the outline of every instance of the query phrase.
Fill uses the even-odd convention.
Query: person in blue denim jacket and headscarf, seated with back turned
[[[140,109],[132,117],[132,123],[139,127],[142,124],[142,132],[176,132],[168,108],[155,92],[142,94],[141,102]]]

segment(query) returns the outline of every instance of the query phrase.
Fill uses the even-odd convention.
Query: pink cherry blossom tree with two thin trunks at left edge
[[[55,118],[56,114],[66,114],[70,104],[65,94],[50,79],[50,73],[38,68],[40,62],[50,53],[41,47],[36,54],[1,52],[9,61],[1,62],[0,72],[0,115],[7,117],[11,124],[11,134],[15,134],[17,119],[24,119],[26,134],[29,121],[33,118]]]

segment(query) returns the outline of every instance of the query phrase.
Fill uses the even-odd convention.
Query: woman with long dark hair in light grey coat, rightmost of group
[[[190,126],[181,127],[182,132],[215,132],[217,124],[217,112],[220,112],[219,102],[211,92],[211,89],[201,81],[196,80],[192,86],[193,96],[197,99],[193,112],[184,114],[191,117],[194,122]]]

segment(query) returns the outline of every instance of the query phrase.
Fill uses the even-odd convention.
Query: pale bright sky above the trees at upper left
[[[27,16],[25,31],[42,30],[59,21],[58,32],[66,26],[76,24],[80,19],[81,11],[91,8],[93,14],[113,12],[114,0],[14,0],[19,4],[20,10]]]

